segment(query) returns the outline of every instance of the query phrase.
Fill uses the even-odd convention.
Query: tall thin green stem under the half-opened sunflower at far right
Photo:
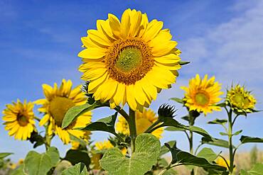
[[[228,114],[228,147],[229,147],[229,158],[230,158],[230,174],[232,174],[234,169],[234,154],[232,145],[232,109],[230,109]]]

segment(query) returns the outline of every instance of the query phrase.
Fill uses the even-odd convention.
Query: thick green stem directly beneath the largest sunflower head
[[[132,152],[135,151],[135,139],[136,139],[136,121],[135,121],[135,111],[129,108],[129,119],[127,122],[129,123],[129,133],[132,138]]]

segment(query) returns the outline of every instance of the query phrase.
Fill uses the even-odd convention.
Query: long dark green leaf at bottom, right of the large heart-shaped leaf
[[[204,169],[214,169],[218,171],[226,171],[227,169],[223,166],[219,166],[218,164],[210,164],[208,160],[203,157],[196,157],[193,154],[188,152],[183,152],[176,147],[176,143],[171,147],[167,143],[165,143],[166,147],[170,149],[172,154],[171,164],[183,164],[183,165],[193,165],[200,166]]]

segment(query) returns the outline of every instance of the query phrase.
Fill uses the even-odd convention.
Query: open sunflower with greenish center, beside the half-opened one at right
[[[218,81],[215,82],[215,77],[208,79],[208,75],[205,74],[203,79],[200,79],[199,74],[195,75],[195,78],[190,79],[189,86],[182,86],[181,89],[186,91],[183,101],[185,106],[189,108],[189,111],[212,113],[212,111],[220,111],[221,108],[216,106],[223,94],[221,84]]]

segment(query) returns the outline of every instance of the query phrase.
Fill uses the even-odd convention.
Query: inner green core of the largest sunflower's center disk
[[[119,53],[116,67],[124,72],[130,72],[141,64],[142,60],[141,50],[136,47],[127,47]]]

